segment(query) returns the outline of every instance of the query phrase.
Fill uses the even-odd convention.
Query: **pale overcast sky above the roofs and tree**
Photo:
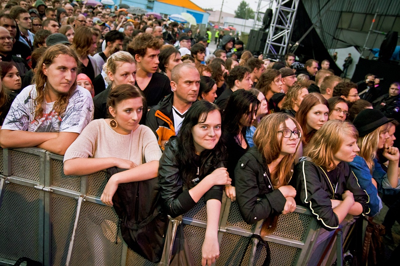
[[[214,10],[220,10],[222,0],[191,0],[193,3],[197,4],[201,8],[213,8]],[[237,9],[237,6],[242,0],[224,0],[222,11],[234,14],[234,10]],[[246,2],[250,5],[250,7],[254,10],[257,10],[258,0],[246,0]],[[261,9],[263,11],[267,8],[267,1],[261,2]],[[264,8],[262,8],[264,6]]]

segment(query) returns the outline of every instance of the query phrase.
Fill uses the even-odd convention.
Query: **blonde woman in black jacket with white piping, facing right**
[[[351,123],[330,120],[316,131],[294,169],[296,202],[328,231],[337,229],[347,214],[370,213],[369,197],[348,165],[359,152],[357,138]]]

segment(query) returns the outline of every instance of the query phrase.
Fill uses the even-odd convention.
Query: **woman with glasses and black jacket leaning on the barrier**
[[[253,140],[255,146],[239,159],[234,170],[236,200],[247,224],[266,219],[261,228],[265,236],[276,227],[278,215],[296,208],[296,191],[289,181],[301,128],[293,117],[274,113],[261,120]]]

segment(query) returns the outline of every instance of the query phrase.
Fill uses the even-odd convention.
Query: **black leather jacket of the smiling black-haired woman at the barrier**
[[[196,202],[189,195],[189,189],[183,184],[180,173],[180,165],[176,161],[177,139],[171,137],[165,145],[164,153],[159,160],[159,186],[162,198],[162,208],[172,218],[177,217],[189,211],[196,205]],[[225,156],[219,153],[211,153],[206,158],[200,158],[199,172],[203,175],[193,177],[194,187],[205,176],[219,167],[225,167]],[[193,165],[193,167],[197,167]],[[204,202],[209,199],[222,199],[223,186],[213,186],[204,194]]]

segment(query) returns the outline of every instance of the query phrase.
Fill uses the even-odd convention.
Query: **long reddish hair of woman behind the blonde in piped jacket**
[[[303,98],[298,111],[296,112],[296,120],[300,124],[301,128],[303,129],[303,145],[306,145],[311,137],[315,134],[316,130],[311,130],[308,132],[307,130],[307,114],[312,107],[317,104],[324,104],[329,110],[328,101],[323,98],[323,96],[319,93],[310,93],[305,95]]]

